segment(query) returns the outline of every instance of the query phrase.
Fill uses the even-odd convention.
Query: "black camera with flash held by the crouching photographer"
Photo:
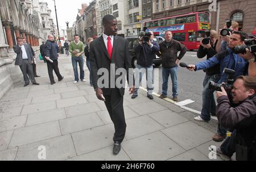
[[[228,91],[230,92],[232,90],[233,83],[234,83],[234,74],[236,72],[234,70],[232,70],[232,69],[225,68],[223,73],[228,74],[227,81],[225,83],[221,83],[221,84],[218,84],[218,83],[215,83],[213,81],[210,81],[210,83],[209,83],[210,89],[213,89],[215,91],[221,91],[221,87],[224,87],[224,89],[227,92]]]

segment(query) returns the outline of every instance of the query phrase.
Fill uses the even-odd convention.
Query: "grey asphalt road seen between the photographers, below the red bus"
[[[196,62],[204,61],[204,58],[197,58],[196,51],[188,51],[181,59],[186,64],[196,64]],[[179,102],[183,100],[193,100],[193,103],[185,105],[185,107],[192,108],[196,111],[201,111],[202,108],[202,90],[205,73],[203,70],[191,72],[186,68],[179,67],[178,69],[178,91]],[[146,78],[143,76],[142,87],[146,88]],[[155,93],[162,94],[162,69],[155,68]],[[169,77],[168,82],[168,98],[172,99],[172,83]]]

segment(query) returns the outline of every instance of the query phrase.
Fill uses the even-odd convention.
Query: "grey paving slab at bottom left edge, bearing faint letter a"
[[[39,147],[39,146],[44,146]],[[45,149],[44,149],[45,148]],[[42,159],[42,150],[46,150],[46,159]],[[16,161],[61,161],[76,156],[71,135],[19,146]]]

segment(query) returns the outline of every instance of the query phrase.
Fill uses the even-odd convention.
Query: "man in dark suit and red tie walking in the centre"
[[[90,43],[90,66],[92,70],[93,87],[96,91],[97,98],[105,101],[110,118],[114,123],[114,148],[113,154],[118,154],[121,150],[121,142],[125,138],[126,123],[125,114],[123,112],[123,95],[125,94],[125,86],[118,87],[115,81],[119,75],[114,74],[114,81],[110,78],[110,73],[115,73],[117,69],[124,69],[127,74],[127,81],[130,86],[130,94],[134,92],[133,72],[129,73],[131,67],[131,59],[128,51],[127,40],[117,35],[117,19],[113,15],[105,15],[102,19],[104,33],[98,39]],[[111,68],[110,66],[113,66]],[[101,86],[101,74],[98,70],[108,70],[108,82],[104,80],[104,86]],[[99,80],[99,83],[98,83]],[[108,85],[105,85],[108,83]]]

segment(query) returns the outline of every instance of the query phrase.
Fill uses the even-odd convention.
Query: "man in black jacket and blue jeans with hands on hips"
[[[162,57],[162,77],[163,77],[163,86],[162,86],[162,95],[159,98],[167,98],[168,90],[168,78],[171,75],[172,79],[172,100],[177,102],[177,65],[181,58],[187,52],[187,48],[181,44],[179,41],[172,39],[172,32],[166,31],[165,41],[159,44],[160,53],[156,53],[159,57]],[[180,51],[179,56],[177,52]]]

